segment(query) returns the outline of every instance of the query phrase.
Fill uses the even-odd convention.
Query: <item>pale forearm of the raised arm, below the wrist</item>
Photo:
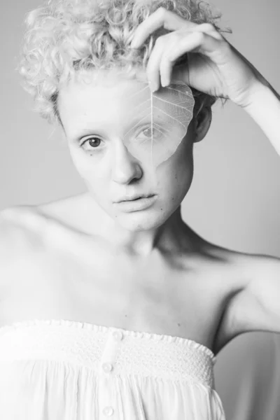
[[[243,109],[260,126],[280,155],[280,95],[269,83],[259,82],[250,103]]]

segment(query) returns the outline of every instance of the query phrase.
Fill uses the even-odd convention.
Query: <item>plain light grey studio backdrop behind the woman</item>
[[[211,3],[233,30],[226,35],[230,43],[280,92],[280,3]],[[0,5],[0,209],[85,191],[62,135],[33,113],[15,71],[25,13],[39,4]],[[258,125],[234,104],[216,104],[209,134],[195,145],[194,156],[193,185],[183,202],[186,222],[220,246],[280,257],[280,156]],[[221,351],[214,372],[228,420],[279,420],[279,358],[280,335],[270,332],[240,335]]]

